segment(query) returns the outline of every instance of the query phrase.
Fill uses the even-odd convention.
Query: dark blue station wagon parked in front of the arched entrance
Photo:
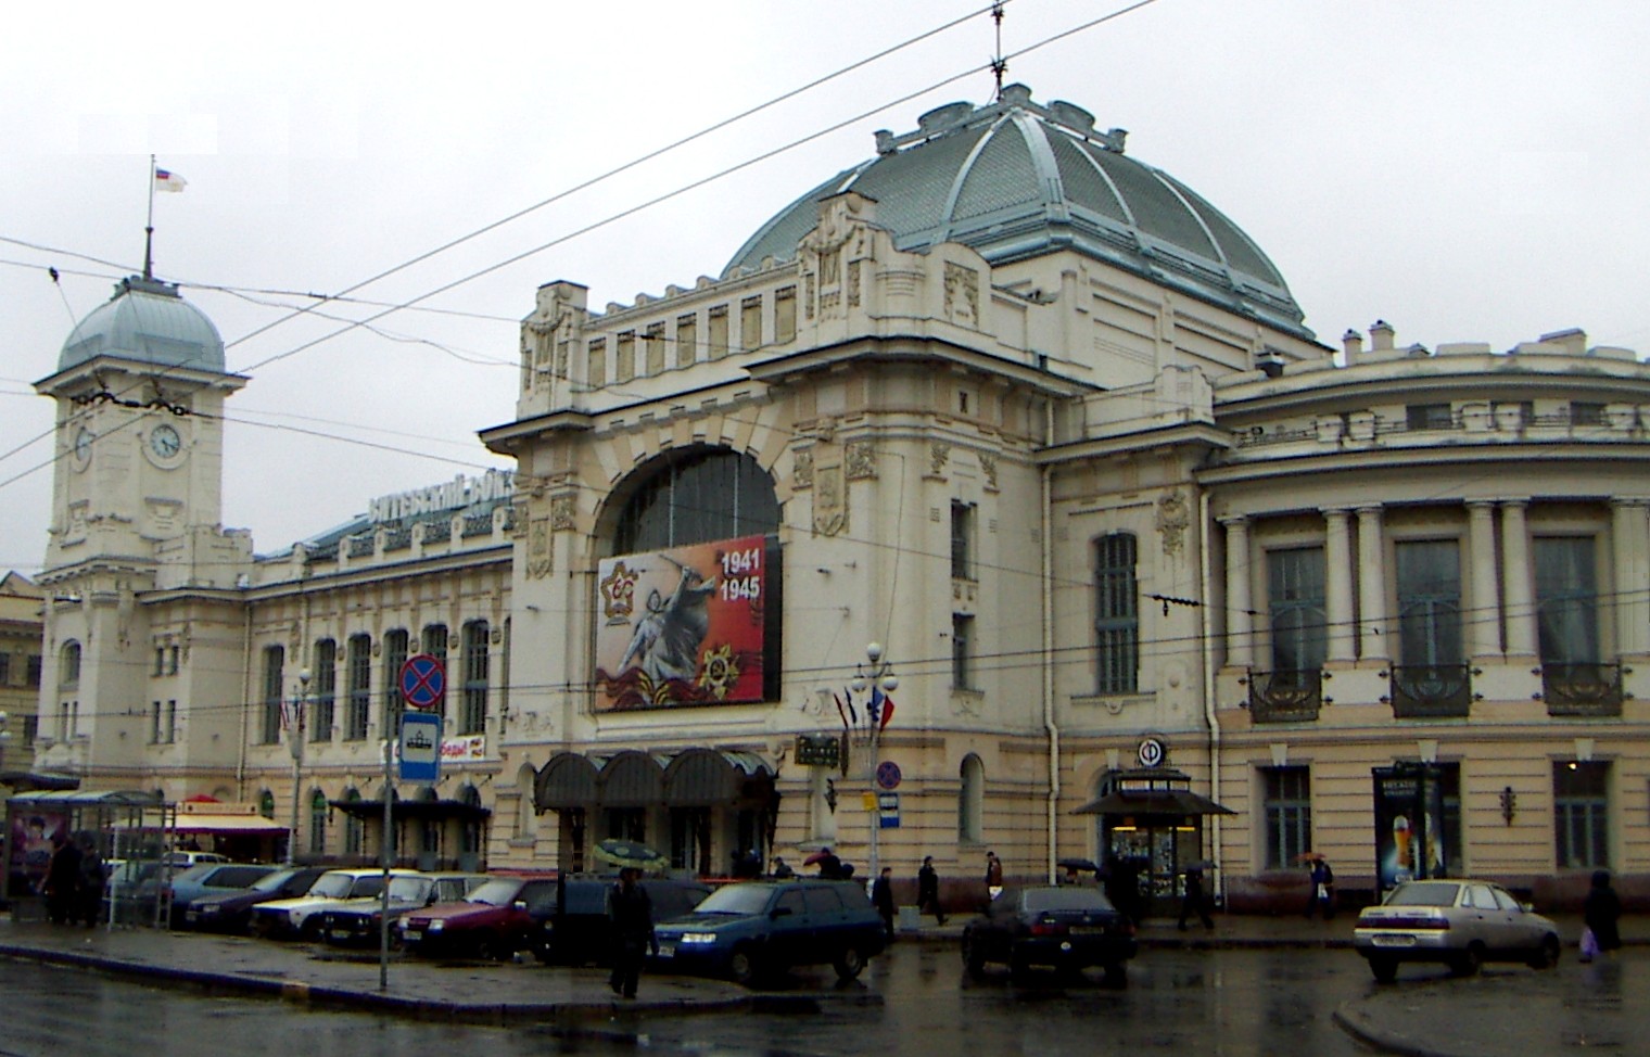
[[[865,889],[817,877],[729,884],[653,932],[660,968],[742,984],[797,965],[833,965],[842,979],[853,979],[886,947]]]

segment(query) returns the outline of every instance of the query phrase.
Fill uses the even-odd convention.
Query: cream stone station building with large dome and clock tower
[[[716,277],[538,289],[513,473],[272,554],[221,526],[223,341],[124,282],[58,404],[35,770],[378,854],[408,656],[446,663],[403,859],[954,884],[1209,861],[1270,905],[1650,876],[1650,369],[1318,341],[1122,130],[1010,86],[879,132]],[[300,857],[302,857],[300,856]],[[1287,895],[1292,899],[1292,895]]]

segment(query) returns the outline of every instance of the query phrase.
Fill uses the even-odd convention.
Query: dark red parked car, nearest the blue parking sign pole
[[[554,912],[554,877],[493,877],[459,902],[401,915],[401,943],[416,955],[512,958]]]

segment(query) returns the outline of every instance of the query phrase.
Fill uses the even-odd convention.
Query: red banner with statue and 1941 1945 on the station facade
[[[762,701],[766,538],[597,567],[596,709]]]

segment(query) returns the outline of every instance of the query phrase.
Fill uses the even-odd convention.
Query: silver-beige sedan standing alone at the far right
[[[1404,961],[1437,961],[1472,976],[1485,961],[1558,965],[1558,925],[1488,881],[1406,881],[1358,914],[1353,948],[1381,983]]]

